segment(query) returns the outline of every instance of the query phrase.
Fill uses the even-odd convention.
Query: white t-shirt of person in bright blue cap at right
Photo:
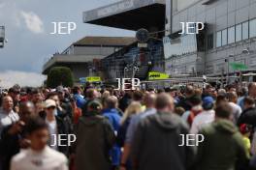
[[[190,133],[197,134],[201,128],[204,128],[208,124],[212,123],[215,119],[215,111],[208,110],[203,111],[197,115],[192,123]]]

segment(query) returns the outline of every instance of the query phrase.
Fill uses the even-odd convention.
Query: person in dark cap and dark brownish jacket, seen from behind
[[[80,117],[76,141],[75,168],[78,170],[111,170],[110,150],[115,135],[108,119],[101,115],[97,100],[87,104],[87,112]]]

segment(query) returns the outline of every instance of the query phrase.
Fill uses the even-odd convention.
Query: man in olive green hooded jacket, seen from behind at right
[[[249,153],[240,131],[231,121],[232,107],[228,102],[215,108],[215,121],[200,130],[205,140],[198,147],[198,170],[235,170],[245,166]]]

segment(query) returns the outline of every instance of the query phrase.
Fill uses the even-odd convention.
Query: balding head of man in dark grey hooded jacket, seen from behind
[[[160,94],[156,98],[155,107],[158,111],[174,111],[174,99],[168,94]]]

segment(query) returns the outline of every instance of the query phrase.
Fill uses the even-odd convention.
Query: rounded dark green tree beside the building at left
[[[47,85],[49,88],[57,86],[72,87],[74,85],[74,76],[67,67],[53,67],[48,71]]]

